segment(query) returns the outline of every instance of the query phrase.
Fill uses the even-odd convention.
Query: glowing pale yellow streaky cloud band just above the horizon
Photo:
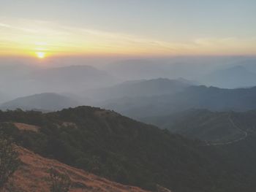
[[[195,38],[168,42],[116,31],[63,26],[42,20],[1,20],[0,50],[23,53],[121,53],[151,55],[256,54],[256,38]]]

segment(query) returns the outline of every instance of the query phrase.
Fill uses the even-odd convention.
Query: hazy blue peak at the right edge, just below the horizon
[[[244,66],[233,66],[212,72],[200,82],[220,88],[252,87],[256,85],[256,74],[249,72]]]

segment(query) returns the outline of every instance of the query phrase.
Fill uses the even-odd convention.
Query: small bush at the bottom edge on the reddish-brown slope
[[[56,169],[50,168],[50,192],[68,192],[71,180],[67,174],[62,174]]]

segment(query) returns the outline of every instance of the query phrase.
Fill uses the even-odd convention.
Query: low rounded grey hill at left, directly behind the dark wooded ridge
[[[67,107],[78,106],[75,101],[68,96],[62,96],[57,93],[40,93],[32,96],[20,97],[12,101],[7,101],[0,105],[1,110],[61,110]]]

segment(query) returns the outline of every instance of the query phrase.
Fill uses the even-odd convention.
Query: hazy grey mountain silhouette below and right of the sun
[[[42,91],[78,92],[113,85],[116,78],[92,66],[64,66],[41,69],[30,75]]]

